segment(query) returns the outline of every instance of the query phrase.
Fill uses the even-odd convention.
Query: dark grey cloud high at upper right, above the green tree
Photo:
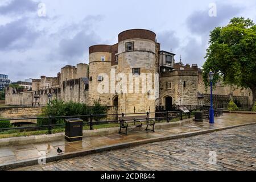
[[[187,18],[187,27],[192,34],[209,34],[213,28],[221,26],[221,23],[227,19],[233,18],[238,15],[243,7],[237,7],[227,4],[216,3],[217,5],[217,16],[210,17],[209,10],[195,11]]]

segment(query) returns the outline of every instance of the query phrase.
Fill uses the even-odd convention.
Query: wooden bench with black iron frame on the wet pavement
[[[127,129],[128,127],[142,127],[143,124],[142,122],[146,121],[146,131],[150,130],[148,129],[148,126],[152,126],[152,130],[155,132],[155,121],[153,119],[148,119],[147,115],[137,115],[137,116],[129,116],[129,117],[119,117],[119,122],[120,122],[120,130],[119,134],[121,134],[122,129],[125,129],[125,133],[127,135]],[[134,125],[129,125],[130,123],[134,123]]]

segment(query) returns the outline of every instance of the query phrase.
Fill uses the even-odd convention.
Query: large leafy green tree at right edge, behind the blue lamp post
[[[256,102],[256,25],[251,19],[233,18],[225,27],[210,32],[207,59],[203,65],[205,86],[209,86],[208,73],[215,72],[213,84],[250,88]]]

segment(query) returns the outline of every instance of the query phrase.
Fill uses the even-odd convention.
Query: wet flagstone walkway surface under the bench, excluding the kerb
[[[82,142],[68,143],[65,140],[56,140],[53,142],[44,143],[30,143],[18,146],[0,147],[0,168],[7,164],[27,162],[30,160],[37,160],[39,158],[39,151],[45,151],[47,158],[58,158],[56,149],[61,148],[65,152],[64,155],[77,154],[78,152],[102,150],[104,147],[115,147],[118,144],[141,142],[148,139],[175,136],[177,134],[191,133],[195,131],[217,129],[220,127],[234,126],[245,123],[256,122],[255,114],[230,114],[224,113],[223,116],[216,119],[214,125],[208,122],[191,122],[183,126],[170,127],[166,129],[158,129],[155,133],[146,131],[130,131],[129,134],[119,135],[101,135],[98,137],[86,137]],[[128,147],[127,146],[127,147]],[[115,148],[116,149],[116,148]],[[77,155],[79,156],[79,155]]]

